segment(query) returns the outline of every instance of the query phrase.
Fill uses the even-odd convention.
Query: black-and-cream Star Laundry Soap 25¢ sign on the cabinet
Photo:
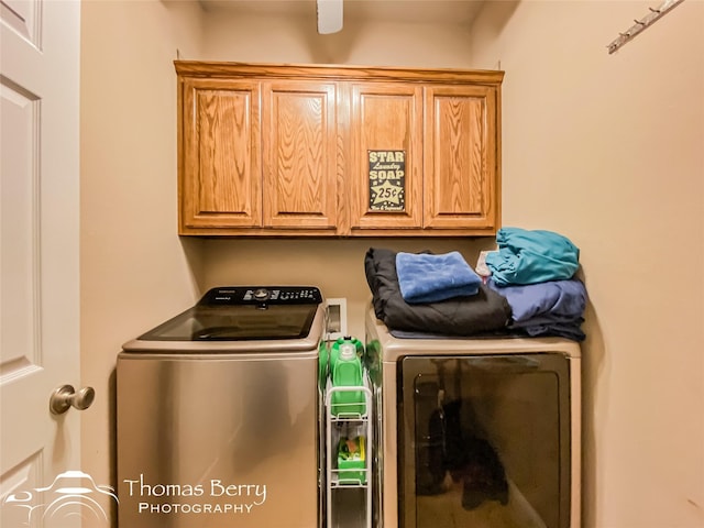
[[[406,210],[406,151],[367,151],[370,211]]]

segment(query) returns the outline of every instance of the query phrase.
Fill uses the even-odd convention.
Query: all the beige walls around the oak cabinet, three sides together
[[[194,2],[82,8],[84,471],[110,472],[109,394],[120,344],[221,284],[317,284],[346,297],[361,334],[370,246],[493,240],[194,240],[176,235],[172,61],[340,63],[506,70],[504,224],[582,249],[585,527],[704,522],[704,3],[688,0],[617,55],[642,2],[490,2],[466,29],[200,13]],[[201,33],[202,32],[202,33]],[[472,51],[472,53],[470,53]],[[663,249],[676,250],[668,262]],[[684,268],[684,270],[682,270]],[[158,289],[158,295],[155,290]]]

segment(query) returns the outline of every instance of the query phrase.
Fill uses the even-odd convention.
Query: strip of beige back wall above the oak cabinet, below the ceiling
[[[312,2],[311,2],[312,3]],[[469,29],[345,20],[319,35],[315,16],[208,13],[204,54],[212,61],[469,67]]]

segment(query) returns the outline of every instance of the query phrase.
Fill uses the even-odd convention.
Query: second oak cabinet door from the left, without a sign
[[[337,224],[336,84],[282,80],[263,87],[264,226]]]

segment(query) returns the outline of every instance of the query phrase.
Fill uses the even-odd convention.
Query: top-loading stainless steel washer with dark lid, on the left
[[[119,526],[319,526],[323,328],[315,287],[220,287],[125,343]]]

